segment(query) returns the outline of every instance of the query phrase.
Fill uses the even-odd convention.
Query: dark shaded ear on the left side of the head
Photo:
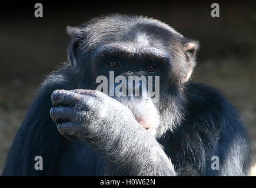
[[[78,68],[78,57],[76,53],[78,51],[79,38],[82,35],[82,31],[78,27],[67,26],[67,33],[72,39],[68,47],[68,61],[74,68]]]

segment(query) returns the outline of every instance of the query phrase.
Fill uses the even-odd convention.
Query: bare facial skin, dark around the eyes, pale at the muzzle
[[[168,86],[171,66],[168,53],[155,48],[153,43],[149,42],[149,39],[139,36],[138,38],[134,40],[136,41],[134,43],[129,42],[127,45],[111,43],[94,51],[90,65],[91,78],[104,75],[109,80],[109,71],[114,71],[115,77],[122,75],[127,80],[130,75],[146,76],[146,78],[147,76],[159,76],[160,87]],[[139,46],[139,43],[144,43],[143,48]],[[138,123],[145,129],[152,133],[155,132],[159,123],[159,115],[151,98],[139,96],[133,98],[115,97],[115,99],[126,105],[132,111]]]

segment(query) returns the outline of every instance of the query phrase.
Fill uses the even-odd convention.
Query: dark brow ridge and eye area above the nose
[[[148,40],[145,41],[147,43]],[[142,42],[142,41],[141,41]],[[159,76],[160,86],[168,86],[171,70],[170,56],[147,44],[144,48],[137,43],[123,45],[111,43],[94,52],[91,60],[92,77],[109,76],[109,71],[118,75]],[[111,65],[109,65],[111,64]],[[165,79],[163,79],[165,78]]]

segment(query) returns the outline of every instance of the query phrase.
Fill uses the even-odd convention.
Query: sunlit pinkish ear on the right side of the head
[[[184,53],[188,63],[187,75],[185,76],[183,82],[187,82],[195,67],[195,55],[197,54],[197,49],[199,48],[199,42],[188,40],[184,44]]]

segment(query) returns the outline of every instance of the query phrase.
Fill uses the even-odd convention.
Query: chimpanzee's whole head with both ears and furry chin
[[[134,84],[131,85],[127,81],[124,84],[127,86],[125,93],[128,89],[138,89],[139,95],[124,97],[114,92],[112,97],[127,105],[135,119],[157,136],[172,129],[168,125],[178,123],[175,121],[181,119],[180,106],[183,106],[179,105],[182,102],[181,88],[194,69],[198,42],[184,38],[163,22],[142,16],[101,16],[77,27],[68,26],[67,31],[72,38],[68,60],[77,72],[79,88],[97,89],[97,78],[105,76],[111,96],[113,78],[119,76],[129,80],[129,76],[143,76],[146,89],[142,82],[136,85],[132,81]],[[150,83],[148,78],[152,78]],[[159,78],[158,82],[156,78]],[[119,83],[112,83],[114,91]],[[148,85],[152,85],[156,95],[159,93],[159,100],[152,100]],[[165,105],[167,101],[171,105]],[[171,119],[174,123],[165,118],[167,112],[175,113]]]

